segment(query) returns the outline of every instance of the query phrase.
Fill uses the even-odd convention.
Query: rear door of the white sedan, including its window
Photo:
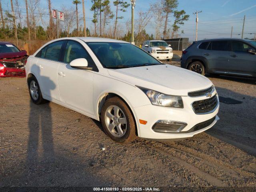
[[[57,70],[59,66],[60,53],[64,41],[57,41],[42,48],[36,57],[38,62],[32,66],[36,71],[37,79],[44,98],[47,100],[59,100]]]

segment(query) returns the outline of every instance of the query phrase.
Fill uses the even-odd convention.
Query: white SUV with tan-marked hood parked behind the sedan
[[[158,60],[172,60],[173,52],[171,45],[161,40],[148,40],[142,44],[142,49]]]

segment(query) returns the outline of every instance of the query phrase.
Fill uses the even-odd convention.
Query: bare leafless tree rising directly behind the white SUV
[[[162,4],[160,2],[157,2],[152,5],[154,8],[152,9],[152,12],[154,14],[154,26],[155,26],[155,39],[161,38],[161,32],[160,29],[163,27],[163,9]]]

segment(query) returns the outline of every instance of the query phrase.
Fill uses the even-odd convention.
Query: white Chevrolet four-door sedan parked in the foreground
[[[26,75],[35,104],[49,100],[100,120],[120,143],[192,137],[219,119],[208,78],[120,40],[52,40],[28,58]]]

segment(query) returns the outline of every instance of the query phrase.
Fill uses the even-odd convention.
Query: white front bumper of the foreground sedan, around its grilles
[[[214,90],[213,95],[217,94]],[[219,100],[216,108],[208,114],[195,114],[191,104],[196,100],[204,100],[207,99],[206,96],[199,97],[189,97],[182,96],[184,108],[170,108],[170,107],[162,107],[162,106],[154,106],[154,105],[146,105],[134,108],[136,112],[136,117],[138,119],[146,120],[147,124],[139,124],[138,125],[138,136],[142,138],[149,139],[176,139],[176,138],[187,138],[192,137],[195,134],[203,132],[216,124],[219,120],[217,116],[219,111]],[[202,122],[206,122],[210,119],[213,121],[210,125],[201,128],[199,130],[193,130],[194,126],[200,124]],[[152,127],[159,120],[170,120],[175,122],[184,122],[187,125],[180,130],[178,133],[162,133],[155,132]],[[191,131],[192,130],[192,131]]]

